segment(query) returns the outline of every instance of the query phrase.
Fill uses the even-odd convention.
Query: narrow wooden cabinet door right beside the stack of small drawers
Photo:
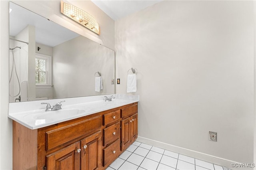
[[[130,127],[130,117],[121,121],[121,149],[124,150],[128,148],[131,141],[131,127]]]

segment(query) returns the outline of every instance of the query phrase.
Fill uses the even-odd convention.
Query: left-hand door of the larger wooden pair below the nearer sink
[[[46,156],[48,170],[80,170],[80,142]]]

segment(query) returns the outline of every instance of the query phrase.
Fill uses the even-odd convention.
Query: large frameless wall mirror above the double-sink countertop
[[[115,93],[112,49],[12,2],[9,42],[10,103]]]

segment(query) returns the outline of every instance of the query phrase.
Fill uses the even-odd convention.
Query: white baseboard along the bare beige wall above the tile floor
[[[151,139],[144,138],[144,137],[141,137],[141,136],[138,136],[138,138],[136,140],[138,142],[142,142],[142,143],[145,143],[145,144],[150,144],[152,146],[156,146],[156,147],[159,147],[159,148],[170,150],[172,152],[177,152],[179,154],[190,156],[190,157],[193,157],[193,158],[196,158],[196,159],[199,159],[199,160],[204,160],[206,162],[211,162],[211,163],[216,164],[216,165],[224,166],[224,167],[227,167],[231,170],[242,170],[242,168],[233,168],[231,166],[231,164],[232,163],[238,163],[239,164],[239,162],[235,162],[235,161],[232,161],[232,160],[227,160],[227,159],[220,158],[220,157],[217,157],[217,156],[204,154],[202,152],[197,152],[195,150],[190,150],[190,149],[182,148],[182,147],[179,147],[179,146],[174,146],[174,145],[171,145],[171,144],[167,144],[167,143],[164,143],[164,142],[159,142],[159,141],[156,141],[156,140],[151,140]],[[252,170],[252,168],[247,168],[247,170]]]

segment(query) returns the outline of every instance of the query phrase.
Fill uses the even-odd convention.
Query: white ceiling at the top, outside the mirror
[[[161,1],[162,0],[92,0],[96,6],[113,20],[126,17]]]

